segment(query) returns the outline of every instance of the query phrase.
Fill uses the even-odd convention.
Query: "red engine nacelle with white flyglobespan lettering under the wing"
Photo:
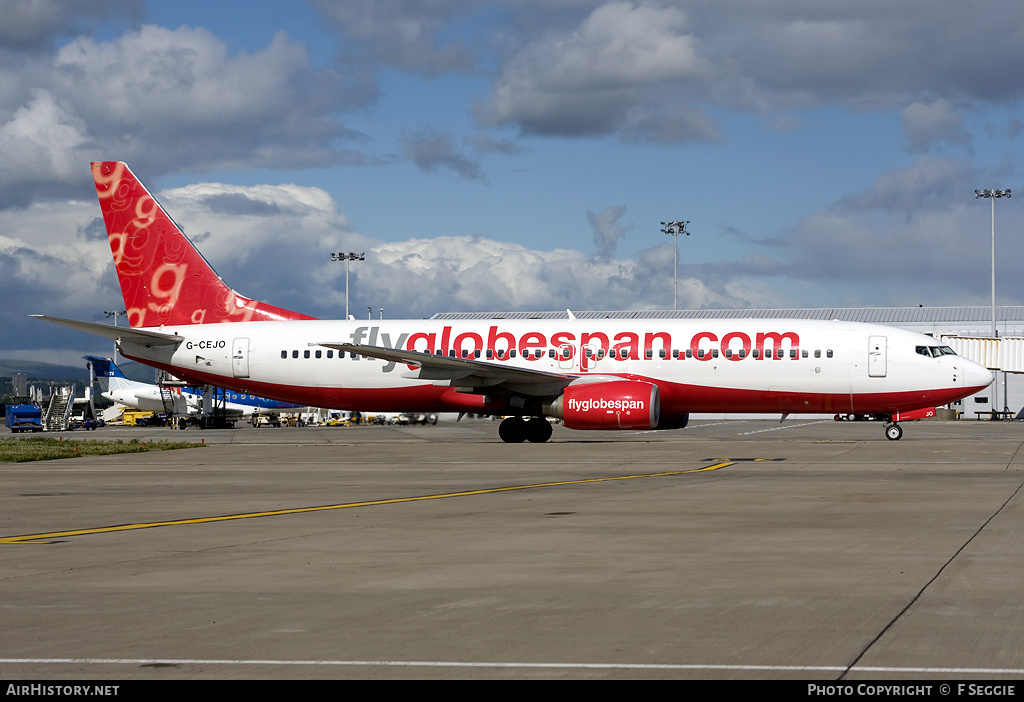
[[[660,404],[656,385],[610,381],[570,385],[545,411],[569,429],[653,429]]]

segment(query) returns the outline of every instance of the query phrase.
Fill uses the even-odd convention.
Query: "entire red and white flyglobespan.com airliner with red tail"
[[[316,319],[228,288],[122,162],[92,174],[130,326],[34,315],[114,339],[197,385],[362,411],[503,415],[508,443],[568,429],[682,429],[691,412],[901,421],[991,384],[932,337],[807,319]]]

